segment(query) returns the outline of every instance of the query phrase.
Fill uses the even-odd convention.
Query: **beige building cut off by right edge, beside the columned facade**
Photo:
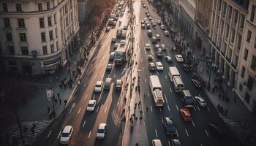
[[[245,16],[236,93],[252,112],[256,111],[256,1],[249,1]]]

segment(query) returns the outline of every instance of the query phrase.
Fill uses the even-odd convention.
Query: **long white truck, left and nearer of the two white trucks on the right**
[[[157,107],[164,106],[165,101],[162,96],[162,85],[161,85],[157,75],[151,75],[149,77],[149,85],[151,88],[151,93],[153,95],[155,106],[157,106]]]

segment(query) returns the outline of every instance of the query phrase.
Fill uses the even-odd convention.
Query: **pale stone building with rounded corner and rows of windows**
[[[59,70],[75,51],[77,0],[0,0],[0,69],[13,74]]]

